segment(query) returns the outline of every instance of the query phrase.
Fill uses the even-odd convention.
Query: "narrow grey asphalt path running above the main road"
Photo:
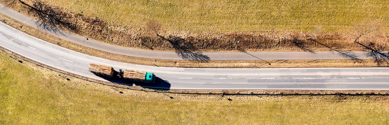
[[[30,17],[24,16],[16,11],[5,8],[0,5],[0,13],[16,19],[26,25],[39,29],[41,31],[52,34],[61,39],[70,42],[91,47],[98,50],[127,55],[132,57],[150,58],[150,59],[169,59],[169,60],[319,60],[319,59],[373,59],[367,56],[363,51],[351,52],[212,52],[212,53],[176,53],[176,52],[160,52],[150,50],[131,49],[119,47],[97,42],[95,40],[87,40],[85,37],[71,34],[50,25],[46,25]]]

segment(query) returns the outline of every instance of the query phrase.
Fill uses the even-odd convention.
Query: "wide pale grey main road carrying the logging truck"
[[[164,89],[388,90],[389,68],[212,69],[143,66],[111,61],[59,47],[0,23],[0,46],[58,69],[89,78]],[[153,85],[100,78],[89,63],[153,72]]]

